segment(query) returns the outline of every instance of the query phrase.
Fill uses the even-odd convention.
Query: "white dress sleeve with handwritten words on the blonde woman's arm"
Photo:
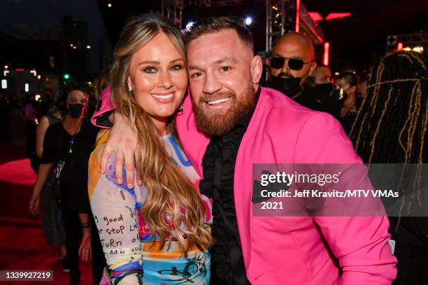
[[[90,167],[94,164],[90,161]],[[90,193],[92,213],[113,284],[130,284],[127,282],[131,280],[138,284],[136,281],[141,280],[143,273],[134,194],[139,190],[117,184],[113,154],[108,161],[106,175],[99,176]]]

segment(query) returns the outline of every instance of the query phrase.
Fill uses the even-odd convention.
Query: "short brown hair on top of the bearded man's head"
[[[204,17],[201,20],[197,20],[190,30],[184,32],[186,50],[189,43],[199,38],[199,36],[217,33],[224,29],[233,29],[236,31],[241,41],[250,47],[251,50],[254,50],[254,37],[251,31],[236,17]]]

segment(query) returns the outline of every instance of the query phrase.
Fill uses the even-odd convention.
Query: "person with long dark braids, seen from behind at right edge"
[[[350,132],[364,163],[428,163],[427,68],[422,54],[406,51],[387,54],[373,67]],[[410,199],[402,208],[411,203],[418,205]],[[390,223],[399,261],[394,284],[428,284],[427,217],[400,214]]]

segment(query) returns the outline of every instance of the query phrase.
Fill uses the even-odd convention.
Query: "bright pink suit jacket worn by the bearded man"
[[[103,92],[97,117],[111,110]],[[93,118],[94,118],[93,117]],[[94,120],[92,121],[94,122]],[[202,177],[209,138],[198,130],[190,96],[177,116],[185,153]],[[252,284],[391,284],[397,259],[383,217],[254,217],[253,163],[362,163],[341,125],[273,89],[263,88],[236,158],[234,198]]]

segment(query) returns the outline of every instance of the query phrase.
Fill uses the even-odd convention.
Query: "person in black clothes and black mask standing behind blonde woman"
[[[31,214],[38,214],[41,192],[55,167],[60,192],[60,207],[66,233],[66,254],[70,268],[70,285],[80,284],[79,256],[84,261],[93,256],[93,263],[101,263],[101,244],[91,242],[91,212],[87,197],[87,162],[93,149],[97,129],[84,117],[89,95],[87,89],[73,82],[67,87],[66,108],[68,114],[62,122],[48,126],[43,140],[43,154],[38,169],[36,184],[29,203]],[[80,243],[80,237],[82,242]],[[92,249],[99,247],[99,254]],[[94,281],[99,282],[102,271],[94,272]]]

